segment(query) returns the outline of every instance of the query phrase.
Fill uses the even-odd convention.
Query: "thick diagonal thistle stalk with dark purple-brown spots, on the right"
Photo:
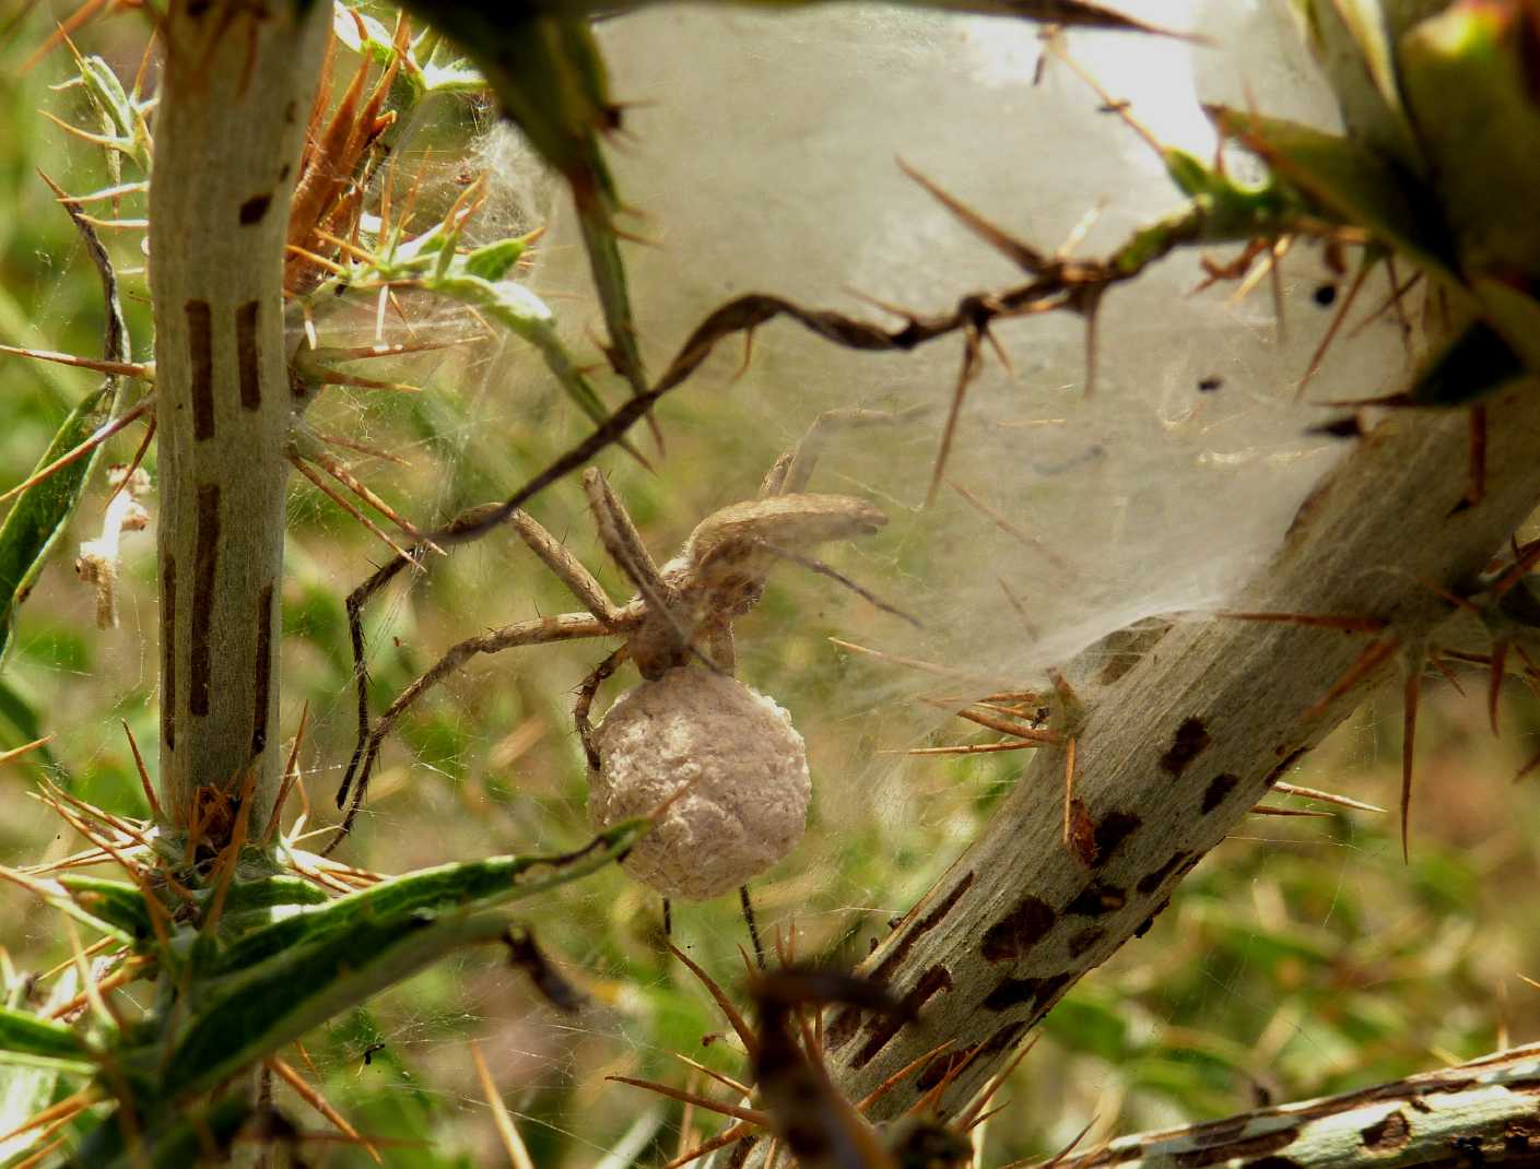
[[[918,1023],[855,1010],[829,1021],[829,1061],[850,1098],[952,1040],[876,1112],[902,1112],[967,1060],[942,1098],[955,1115],[1078,978],[1143,935],[1177,883],[1371,685],[1398,667],[1420,675],[1423,647],[1454,610],[1435,588],[1468,591],[1540,504],[1540,385],[1492,399],[1488,422],[1486,494],[1465,507],[1466,413],[1386,417],[1230,604],[1378,618],[1388,627],[1377,638],[1194,615],[1126,672],[1093,653],[1073,664],[1086,715],[1063,730],[1076,741],[1075,819],[1087,839],[1066,842],[1066,750],[1040,750],[981,838],[861,967]],[[1371,644],[1388,647],[1378,667],[1324,702]],[[1415,799],[1412,826],[1415,849]]]

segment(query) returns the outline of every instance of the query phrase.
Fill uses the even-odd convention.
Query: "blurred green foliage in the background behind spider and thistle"
[[[0,45],[0,340],[94,353],[102,336],[95,274],[34,168],[72,191],[103,185],[105,171],[97,151],[38,114],[79,114],[75,94],[49,91],[68,75],[68,59],[54,54],[20,71],[45,35],[46,15],[46,8],[32,11]],[[80,43],[131,77],[143,26],[119,15],[86,29]],[[477,117],[462,99],[440,111],[433,129],[440,171],[453,174]],[[420,159],[419,151],[411,163]],[[425,185],[425,200],[453,199],[451,177],[436,183]],[[132,200],[122,214],[134,214]],[[137,239],[125,233],[116,254],[134,350],[145,356],[146,297],[142,274],[132,273],[142,262]],[[690,323],[681,322],[681,333]],[[442,519],[502,494],[582,431],[581,414],[534,370],[511,353],[414,360],[400,376],[420,382],[424,393],[336,393],[317,408],[317,428],[408,456],[405,468],[370,459],[356,465],[408,514]],[[0,484],[26,474],[92,385],[91,374],[0,363]],[[624,457],[611,464],[618,490],[659,556],[713,507],[747,497],[776,447],[805,424],[788,422],[781,436],[748,433],[730,402],[688,393],[661,413],[670,436],[664,473],[648,476]],[[136,442],[137,433],[117,439],[109,461],[125,461]],[[718,470],[676,476],[668,465]],[[92,534],[105,494],[99,474],[65,550]],[[624,595],[576,490],[556,488],[533,511],[570,539],[613,595]],[[291,733],[300,708],[310,708],[313,733],[300,759],[305,796],[319,815],[330,810],[353,733],[342,598],[382,548],[303,484],[294,488],[291,519],[283,725]],[[125,544],[125,621],[117,630],[94,628],[94,599],[69,561],[68,551],[55,556],[22,613],[0,679],[0,747],[32,738],[42,725],[57,735],[55,762],[42,764],[45,770],[103,809],[143,815],[119,719],[154,767],[152,538],[143,533]],[[448,644],[491,624],[570,608],[570,598],[531,561],[513,538],[494,534],[380,598],[368,613],[376,710]],[[864,685],[872,667],[836,656],[827,636],[850,636],[867,619],[827,582],[775,576],[764,604],[741,627],[745,673],[801,722],[832,693]],[[420,704],[387,752],[350,859],[403,872],[585,839],[585,781],[568,712],[573,687],[602,651],[578,644],[484,661]],[[912,712],[872,716],[902,721]],[[989,1124],[984,1163],[1049,1152],[1092,1115],[1090,1140],[1214,1118],[1260,1101],[1378,1083],[1540,1032],[1540,990],[1517,978],[1540,976],[1540,940],[1531,927],[1540,915],[1532,849],[1540,798],[1534,782],[1509,782],[1529,755],[1540,716],[1528,695],[1514,693],[1505,719],[1505,738],[1492,741],[1475,695],[1429,687],[1411,866],[1398,858],[1394,813],[1249,821],[1183,884],[1147,936],[1049,1017],[1046,1041],[1007,1089],[1012,1107]],[[795,923],[802,955],[850,963],[961,852],[1015,782],[1019,761],[927,761],[869,792],[853,778],[867,762],[870,729],[816,719],[808,725],[818,793],[810,832],[755,895],[764,927]],[[1394,807],[1397,736],[1394,704],[1371,702],[1291,778]],[[79,847],[28,798],[37,767],[0,772],[6,864]],[[542,1001],[497,953],[471,953],[336,1021],[306,1038],[303,1053],[285,1058],[379,1140],[387,1164],[425,1169],[485,1164],[497,1155],[470,1038],[482,1043],[541,1166],[601,1163],[654,1107],[634,1089],[607,1084],[607,1074],[682,1084],[676,1052],[741,1072],[730,1043],[702,1046],[724,1021],[702,987],[665,961],[658,899],[614,870],[564,893],[531,907],[528,923],[588,993],[591,1006],[579,1017]],[[716,978],[738,983],[745,935],[732,898],[676,907],[675,932]],[[68,955],[54,921],[20,890],[0,896],[0,940],[11,961],[29,970]],[[276,1092],[306,1127],[322,1126],[286,1087]],[[662,1117],[641,1164],[661,1163],[679,1144],[678,1106]],[[313,1149],[311,1163],[370,1161],[359,1149],[328,1144]]]

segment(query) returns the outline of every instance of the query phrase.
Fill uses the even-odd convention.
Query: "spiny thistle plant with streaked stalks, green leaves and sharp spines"
[[[1070,63],[1067,29],[1175,35],[1084,3],[936,6],[1053,25],[1050,46]],[[950,396],[938,397],[946,420],[930,474],[935,496],[970,384],[996,333],[1016,317],[1083,317],[1084,384],[1093,393],[1096,351],[1116,343],[1092,328],[1098,310],[1120,285],[1181,250],[1238,248],[1238,256],[1209,263],[1212,280],[1244,279],[1254,265],[1275,270],[1300,239],[1323,243],[1337,262],[1352,256],[1357,274],[1323,354],[1371,271],[1389,274],[1388,313],[1406,314],[1404,297],[1421,285],[1434,340],[1408,388],[1332,407],[1323,422],[1352,450],[1224,611],[1141,630],[1132,661],[1115,670],[1104,647],[1090,647],[1019,690],[953,704],[1006,736],[993,747],[1030,750],[1033,762],[983,835],[855,976],[807,970],[782,946],[782,969],[752,976],[759,1009],[752,1027],[691,964],[728,1010],[753,1083],[722,1081],[745,1097],[716,1109],[741,1121],[730,1129],[733,1140],[722,1134],[678,1163],[727,1144],[745,1151],[738,1154],[744,1158],[773,1158],[775,1141],[802,1164],[967,1163],[959,1135],[983,1121],[1032,1027],[1083,973],[1150,927],[1183,876],[1263,795],[1289,790],[1295,761],[1374,682],[1400,670],[1404,824],[1426,668],[1457,655],[1486,665],[1494,729],[1505,672],[1537,670],[1531,568],[1540,544],[1505,551],[1540,502],[1540,308],[1532,294],[1540,243],[1526,214],[1540,196],[1532,174],[1540,123],[1526,72],[1540,34],[1528,6],[1300,0],[1301,25],[1341,99],[1344,134],[1215,108],[1221,134],[1263,171],[1241,180],[1223,152],[1206,162],[1164,146],[1140,126],[1137,109],[1101,92],[1129,132],[1146,134],[1160,152],[1184,200],[1177,213],[1101,259],[1076,259],[1013,237],[916,171],[970,233],[1021,268],[1024,282],[973,293],[952,308],[906,311],[898,327],[759,290],[685,333],[656,380],[644,367],[621,250],[624,197],[605,160],[604,139],[621,128],[624,108],[608,92],[588,8],[508,14],[448,0],[405,8],[425,28],[407,15],[391,28],[322,0],[148,5],[162,46],[152,97],[143,80],[125,86],[102,60],[77,57],[77,85],[100,129],[71,131],[106,152],[109,182],[97,191],[60,191],[60,200],[100,273],[105,353],[8,351],[86,365],[105,380],[12,491],[0,527],[0,648],[86,490],[97,451],[142,422],[134,464],[151,440],[157,453],[159,767],[157,779],[139,769],[151,809],[145,819],[42,785],[40,798],[89,847],[0,870],[57,912],[74,952],[71,976],[43,1004],[29,1003],[20,980],[6,973],[0,1115],[9,1118],[15,1101],[25,1106],[0,1134],[6,1157],[176,1166],[226,1157],[243,1137],[296,1144],[293,1121],[268,1106],[263,1089],[273,1077],[305,1083],[279,1057],[282,1047],[473,944],[507,946],[553,1000],[567,998],[508,907],[624,859],[651,821],[667,815],[667,807],[653,809],[564,850],[456,859],[397,876],[305,850],[308,819],[283,827],[303,719],[288,753],[279,725],[285,505],[296,468],[390,550],[346,602],[365,732],[360,605],[400,573],[504,524],[516,525],[564,582],[593,601],[591,621],[576,615],[582,636],[636,627],[653,650],[653,642],[667,648],[648,659],[651,685],[654,675],[719,668],[732,656],[730,618],[758,601],[770,558],[805,558],[772,547],[765,525],[745,522],[690,562],[688,573],[659,571],[611,497],[596,507],[610,525],[605,542],[639,588],[638,601],[618,607],[587,570],[553,551],[553,541],[542,542],[544,528],[530,527],[524,507],[611,447],[664,465],[658,444],[650,448],[636,434],[638,424],[664,434],[659,404],[724,339],[776,317],[858,351],[909,351],[959,337],[961,373]],[[343,54],[351,74],[337,69]],[[346,80],[334,86],[334,75]],[[473,177],[448,208],[416,214],[417,186],[397,162],[397,136],[430,102],[484,86],[568,188],[604,317],[608,373],[584,365],[550,303],[516,279],[539,246],[537,233],[468,242],[487,197],[482,179]],[[334,88],[342,91],[336,100]],[[1471,134],[1472,126],[1480,132]],[[134,360],[119,274],[100,240],[102,229],[131,229],[136,220],[86,209],[139,197],[148,206],[154,336],[143,342],[152,360]],[[343,337],[348,311],[367,308],[383,322],[413,297],[451,305],[453,328],[399,342],[376,323],[370,343]],[[396,385],[357,373],[356,362],[459,347],[484,334],[528,347],[590,430],[565,451],[542,453],[537,474],[459,519],[410,519],[333,453],[348,442],[322,433],[313,407],[328,387]],[[921,404],[916,416],[932,405]],[[1352,411],[1346,420],[1344,410]],[[872,516],[879,514],[862,501],[782,496],[795,476],[790,464],[778,473],[770,499],[713,521],[775,519],[788,501],[824,499],[842,501],[836,519],[847,527],[876,527]],[[132,467],[117,476],[123,490],[131,477]],[[604,484],[596,474],[588,482]],[[836,525],[830,534],[850,531]],[[719,559],[753,568],[730,582],[744,595],[690,608],[687,585],[719,568],[711,558],[721,548]],[[1466,625],[1455,628],[1452,618]],[[1475,651],[1461,641],[1472,619],[1491,638]],[[488,636],[485,645],[496,642],[497,635]],[[541,639],[528,631],[497,647]],[[628,642],[633,655],[639,639]],[[471,645],[464,656],[485,648],[462,642],[456,650],[464,645]],[[719,650],[718,659],[693,661],[701,645]],[[456,650],[445,672],[456,665]],[[611,655],[599,670],[616,664]],[[605,676],[596,672],[585,685],[584,722]],[[795,738],[788,733],[788,742]],[[370,762],[377,745],[370,741]],[[132,750],[139,759],[137,744]],[[343,829],[348,822],[351,815]],[[122,879],[77,872],[106,863]],[[126,989],[136,986],[143,993],[131,998]],[[1406,1157],[1423,1158],[1398,1164],[1438,1161],[1469,1140],[1483,1149],[1505,1141],[1505,1151],[1532,1155],[1532,1127],[1514,1127],[1523,1117],[1498,1107],[1511,1103],[1503,1094],[1529,1083],[1528,1057],[1489,1072],[1446,1075],[1432,1087],[1389,1086],[1369,1101],[1372,1115],[1361,1100],[1320,1101],[1309,1118],[1361,1120],[1351,1155],[1411,1151]],[[691,1104],[705,1100],[648,1086]],[[1478,1097],[1469,1117],[1434,1123],[1412,1115],[1414,1103],[1406,1104],[1412,1112],[1401,1109],[1423,1092],[1457,1089]],[[890,1124],[899,1115],[909,1117],[906,1124]],[[1116,1160],[1169,1155],[1177,1164],[1209,1164],[1234,1154],[1327,1164],[1343,1155],[1326,1137],[1331,1124],[1291,1117],[1267,1114],[1223,1134],[1120,1146]],[[345,1118],[334,1123],[348,1132]],[[514,1157],[514,1138],[508,1143]],[[1098,1154],[1084,1163],[1098,1163]]]

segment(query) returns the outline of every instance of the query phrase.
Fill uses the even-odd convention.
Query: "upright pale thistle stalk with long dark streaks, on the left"
[[[154,123],[149,286],[160,436],[162,804],[188,827],[199,789],[253,822],[277,793],[274,590],[293,424],[283,248],[305,111],[331,6],[177,0]],[[253,214],[254,197],[263,213]]]

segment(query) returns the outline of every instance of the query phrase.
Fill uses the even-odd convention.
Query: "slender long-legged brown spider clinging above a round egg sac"
[[[424,693],[482,653],[500,653],[522,645],[542,645],[581,638],[621,638],[622,644],[584,679],[578,690],[573,718],[590,767],[599,767],[588,712],[599,685],[625,661],[636,664],[642,678],[658,679],[668,670],[699,659],[708,668],[732,675],[735,668],[733,621],[758,604],[765,578],[779,559],[788,559],[830,576],[886,611],[899,613],[878,601],[829,565],[807,558],[801,550],[815,544],[865,536],[887,518],[864,499],[841,494],[807,493],[808,479],[821,447],[835,428],[892,422],[896,414],[872,410],[833,410],[821,414],[802,439],[770,467],[755,499],[730,504],[707,516],[684,548],[659,567],[642,544],[625,507],[598,468],[584,471],[582,485],[594,516],[598,534],[610,558],[636,587],[636,596],[616,605],[604,587],[556,536],[525,511],[514,511],[510,524],[536,556],[582,604],[581,613],[561,613],[491,630],[467,638],[408,685],[370,727],[363,639],[359,610],[377,591],[400,561],[387,565],[348,598],[354,665],[359,684],[359,736],[353,759],[337,790],[337,807],[346,809],[337,835],[326,846],[331,852],[351,830],[368,792],[370,775],[380,745],[402,715]],[[496,505],[460,513],[434,538],[454,542],[457,531],[479,531],[477,521]],[[918,622],[913,622],[918,624]],[[350,798],[351,796],[351,798]]]

